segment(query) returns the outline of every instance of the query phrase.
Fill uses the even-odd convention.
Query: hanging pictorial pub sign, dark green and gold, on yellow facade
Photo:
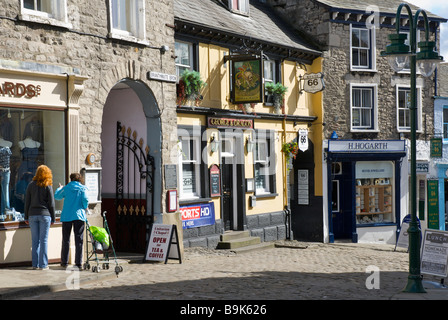
[[[234,104],[263,101],[263,68],[261,57],[232,57],[232,91]]]

